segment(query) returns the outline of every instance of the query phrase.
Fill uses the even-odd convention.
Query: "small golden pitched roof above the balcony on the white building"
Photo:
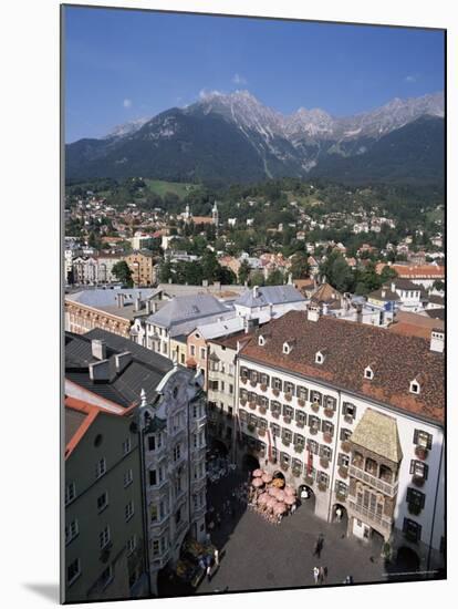
[[[396,419],[366,409],[352,433],[352,443],[364,446],[394,463],[403,458]]]

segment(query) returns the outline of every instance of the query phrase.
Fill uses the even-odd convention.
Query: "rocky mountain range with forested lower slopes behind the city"
[[[342,183],[444,180],[444,94],[336,117],[281,114],[248,91],[207,93],[183,109],[65,146],[66,178],[133,176],[254,182],[294,176]]]

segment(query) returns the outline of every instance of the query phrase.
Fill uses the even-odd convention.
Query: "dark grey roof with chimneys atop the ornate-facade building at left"
[[[110,361],[107,381],[94,382],[90,378],[89,364],[97,361],[92,355],[92,339],[105,341],[106,359]],[[133,358],[118,373],[114,355],[126,351],[129,351]],[[169,359],[98,328],[83,336],[65,332],[65,378],[125,407],[138,402],[142,389],[145,390],[147,400],[153,401],[157,385],[173,367]]]

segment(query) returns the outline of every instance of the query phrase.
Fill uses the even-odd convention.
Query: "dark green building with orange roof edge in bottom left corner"
[[[65,602],[148,595],[133,409],[65,398]]]

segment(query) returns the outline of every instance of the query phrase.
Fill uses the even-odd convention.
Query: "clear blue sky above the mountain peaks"
[[[65,141],[248,90],[335,116],[444,90],[434,30],[65,7]]]

